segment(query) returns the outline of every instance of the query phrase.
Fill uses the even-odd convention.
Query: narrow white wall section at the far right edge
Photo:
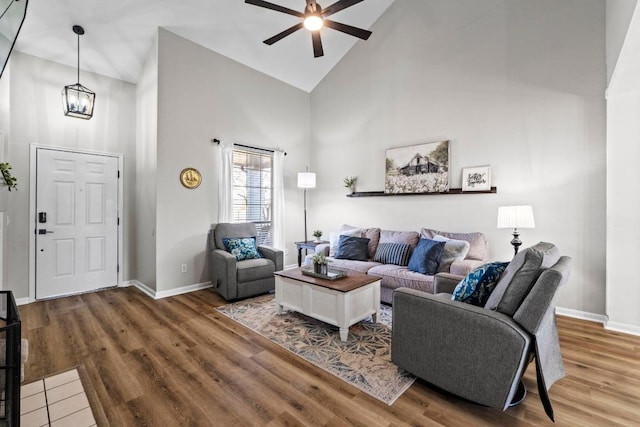
[[[607,91],[607,327],[640,335],[640,7]]]

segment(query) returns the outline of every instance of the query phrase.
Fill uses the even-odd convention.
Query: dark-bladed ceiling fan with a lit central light
[[[352,27],[351,25],[341,24],[339,22],[327,19],[328,16],[331,16],[336,12],[340,12],[341,10],[358,4],[362,1],[364,0],[339,0],[331,6],[323,9],[318,3],[316,3],[315,0],[306,0],[307,5],[304,8],[304,12],[298,12],[296,10],[289,9],[288,7],[269,3],[264,0],[245,0],[245,3],[302,18],[301,22],[297,23],[293,27],[287,28],[283,32],[278,33],[273,37],[266,39],[264,43],[271,46],[275,42],[280,41],[288,35],[295,33],[302,27],[305,27],[306,29],[311,31],[313,56],[318,58],[324,55],[324,50],[322,49],[322,40],[320,39],[319,31],[322,27],[329,27],[334,30],[349,34],[351,36],[358,37],[362,40],[367,40],[369,38],[369,36],[371,35],[371,31],[363,30],[362,28]]]

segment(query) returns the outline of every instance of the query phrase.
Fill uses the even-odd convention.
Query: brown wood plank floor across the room
[[[131,287],[21,306],[25,383],[84,365],[112,426],[553,425],[533,364],[527,399],[506,412],[420,380],[387,406],[218,314],[224,303]],[[640,425],[640,337],[558,325],[568,375],[551,388],[556,425]]]

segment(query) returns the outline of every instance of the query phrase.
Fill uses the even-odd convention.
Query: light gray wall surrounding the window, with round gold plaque
[[[217,222],[221,190],[212,138],[288,153],[287,262],[294,262],[294,233],[302,228],[296,172],[307,162],[309,94],[168,31],[159,30],[158,40],[156,291],[209,280],[207,232]],[[198,188],[180,184],[186,167],[201,172]]]

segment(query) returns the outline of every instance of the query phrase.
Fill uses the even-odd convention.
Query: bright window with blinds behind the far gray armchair
[[[253,222],[258,244],[272,246],[271,194],[273,153],[251,148],[233,149],[233,222]]]

